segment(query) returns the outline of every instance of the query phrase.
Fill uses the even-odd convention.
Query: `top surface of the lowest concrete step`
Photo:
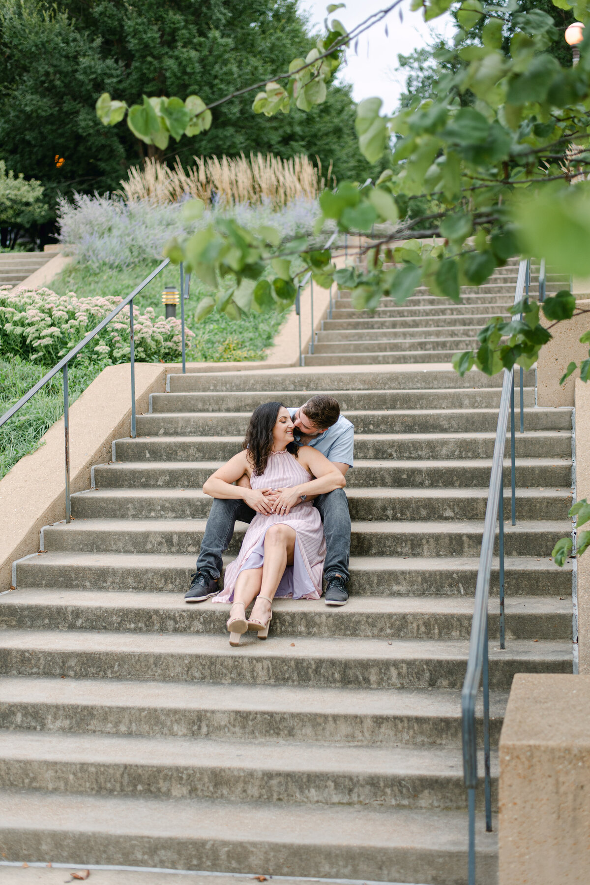
[[[479,825],[478,850],[493,855],[497,838],[484,835],[481,821]],[[259,849],[263,833],[264,843],[270,845],[298,843],[342,849],[416,846],[450,853],[466,850],[467,844],[464,812],[36,791],[0,791],[0,832],[5,829],[41,829],[68,836],[93,832],[175,842],[254,842]]]

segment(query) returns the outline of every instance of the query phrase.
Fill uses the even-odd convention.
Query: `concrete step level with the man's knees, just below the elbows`
[[[347,489],[352,519],[484,519],[487,489]],[[517,520],[567,519],[571,489],[517,489]],[[510,489],[504,512],[510,513]],[[72,496],[75,519],[206,519],[201,489],[91,489]]]

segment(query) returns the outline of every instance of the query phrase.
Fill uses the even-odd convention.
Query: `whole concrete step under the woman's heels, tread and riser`
[[[7,676],[459,690],[469,653],[468,640],[291,639],[251,633],[232,648],[210,635],[4,630],[0,665]],[[571,662],[571,640],[491,643],[490,688],[510,689],[515,673],[571,673]]]

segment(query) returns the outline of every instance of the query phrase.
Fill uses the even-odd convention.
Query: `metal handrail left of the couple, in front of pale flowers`
[[[115,307],[108,316],[101,319],[96,327],[94,327],[88,335],[86,335],[78,344],[73,347],[69,353],[65,354],[65,357],[60,359],[56,366],[53,366],[52,369],[46,374],[43,375],[41,381],[37,381],[34,386],[27,391],[24,396],[21,396],[18,403],[11,405],[11,408],[4,412],[4,415],[0,417],[0,427],[2,427],[6,421],[10,420],[13,415],[19,412],[19,409],[23,407],[23,405],[27,404],[29,399],[31,399],[35,393],[42,389],[42,387],[47,384],[58,372],[64,373],[64,444],[65,444],[65,521],[70,522],[72,515],[72,505],[71,505],[71,496],[70,496],[70,418],[69,418],[69,396],[68,396],[68,377],[67,377],[67,367],[68,364],[73,360],[74,357],[77,357],[82,348],[86,347],[88,342],[92,341],[92,339],[98,335],[99,332],[103,330],[104,327],[108,326],[111,322],[111,319],[114,319],[122,310],[129,305],[129,331],[130,331],[130,353],[129,359],[131,363],[131,436],[135,438],[136,428],[135,428],[135,345],[134,345],[134,297],[138,295],[142,289],[151,282],[154,277],[157,276],[158,273],[164,270],[166,266],[170,264],[170,258],[165,258],[165,261],[162,264],[158,265],[156,270],[152,271],[143,280],[139,286],[136,286],[133,292],[130,295],[126,296],[126,298]],[[181,327],[182,327],[182,372],[186,371],[185,364],[185,328],[184,328],[184,300],[185,297],[188,297],[188,286],[187,286],[187,295],[184,294],[185,289],[185,279],[186,281],[190,281],[190,274],[185,278],[183,267],[180,265],[180,315],[181,315]]]

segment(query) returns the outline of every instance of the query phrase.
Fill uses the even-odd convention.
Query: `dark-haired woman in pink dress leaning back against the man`
[[[321,452],[298,448],[293,421],[281,403],[252,413],[243,450],[203,485],[211,497],[239,498],[257,512],[226,569],[224,589],[211,600],[233,602],[227,629],[231,645],[247,630],[266,639],[274,596],[318,599],[326,558],[324,529],[309,496],[342,489],[346,480]],[[247,473],[250,489],[232,485]],[[315,479],[314,479],[315,477]],[[249,620],[246,608],[256,597]]]

